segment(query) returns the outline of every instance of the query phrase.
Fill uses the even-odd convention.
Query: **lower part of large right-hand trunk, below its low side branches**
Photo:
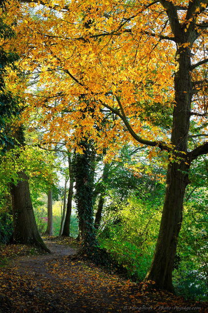
[[[160,231],[154,257],[146,275],[146,282],[154,281],[158,288],[168,291],[172,291],[173,262],[181,229],[184,194],[188,183],[188,174],[182,172],[187,172],[187,166],[182,165],[186,164],[175,162],[168,165]]]

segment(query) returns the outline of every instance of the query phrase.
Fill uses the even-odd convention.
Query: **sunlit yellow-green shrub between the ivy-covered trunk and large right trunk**
[[[117,222],[108,223],[98,236],[100,246],[135,281],[143,280],[150,266],[160,218],[159,210],[132,199],[127,207],[117,212],[114,219]]]

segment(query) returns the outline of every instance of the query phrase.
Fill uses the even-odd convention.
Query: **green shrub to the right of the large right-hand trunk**
[[[178,269],[173,271],[177,294],[194,300],[208,300],[208,203],[185,203],[177,246]]]

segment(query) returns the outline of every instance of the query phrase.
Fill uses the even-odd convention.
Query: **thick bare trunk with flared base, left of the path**
[[[35,245],[50,253],[38,232],[33,206],[30,198],[28,178],[23,171],[19,173],[17,185],[11,186],[13,209],[14,244]]]

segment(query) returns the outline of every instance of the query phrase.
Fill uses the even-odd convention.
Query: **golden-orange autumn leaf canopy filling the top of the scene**
[[[113,149],[115,137],[117,142],[130,139],[121,119],[104,112],[115,111],[126,116],[138,137],[169,143],[171,119],[166,129],[161,126],[174,108],[176,46],[159,1],[23,2],[11,3],[8,19],[17,19],[13,45],[29,85],[18,87],[28,103],[22,118],[37,114],[31,129],[38,123],[45,129],[44,141],[63,139],[69,146],[87,134],[102,152]],[[187,32],[207,1],[189,19],[184,14],[188,1],[171,2],[183,9],[178,16]],[[201,12],[196,18],[203,22],[206,17]],[[200,35],[192,46],[193,63],[206,54],[206,30]],[[186,48],[189,42],[182,45]],[[193,80],[202,71],[195,69]],[[194,108],[202,112],[205,105],[199,97],[207,87],[196,87]]]

